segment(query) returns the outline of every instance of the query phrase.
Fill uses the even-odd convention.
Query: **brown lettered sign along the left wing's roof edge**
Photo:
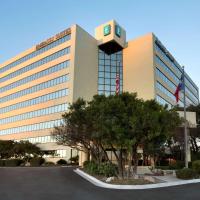
[[[56,34],[55,36],[48,38],[47,40],[45,40],[44,42],[41,42],[40,44],[36,45],[36,50],[39,50],[45,46],[47,46],[48,44],[64,37],[65,35],[69,35],[71,33],[71,28],[65,29],[64,31]]]

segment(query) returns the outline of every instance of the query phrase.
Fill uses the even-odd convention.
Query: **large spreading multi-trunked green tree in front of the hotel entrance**
[[[136,94],[95,95],[89,102],[78,99],[63,115],[64,123],[52,135],[62,144],[86,149],[98,163],[109,160],[110,149],[118,163],[119,176],[124,177],[125,160],[129,169],[138,165],[138,147],[160,148],[180,123],[174,110],[154,100],[143,101]],[[148,154],[152,154],[146,151]],[[153,155],[155,155],[155,151]],[[127,156],[128,155],[128,156]],[[124,159],[126,158],[126,159]]]

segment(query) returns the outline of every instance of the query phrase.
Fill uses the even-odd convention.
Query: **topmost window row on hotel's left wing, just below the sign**
[[[20,58],[20,59],[18,59],[16,61],[14,61],[14,62],[2,67],[0,69],[0,73],[3,73],[5,71],[7,71],[7,70],[19,65],[20,63],[23,63],[23,62],[25,62],[25,61],[27,61],[27,60],[29,60],[29,59],[31,59],[31,58],[33,58],[33,57],[45,52],[45,51],[47,51],[47,50],[49,50],[49,49],[51,49],[51,48],[53,48],[55,46],[58,46],[59,44],[62,44],[62,43],[66,42],[66,41],[68,41],[70,39],[71,39],[71,35],[70,34],[66,35],[63,38],[60,38],[60,39],[56,40],[55,42],[52,42],[51,44],[49,44],[49,45],[47,45],[47,46],[45,46],[45,47],[43,47],[43,48],[41,48],[41,49],[39,49],[37,51],[34,51],[33,53],[30,53],[30,54],[28,54],[28,55],[26,55],[26,56],[24,56],[24,57],[22,57],[22,58]]]

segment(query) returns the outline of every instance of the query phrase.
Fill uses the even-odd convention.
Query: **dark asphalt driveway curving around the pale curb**
[[[0,168],[0,200],[200,200],[200,184],[150,190],[92,185],[73,168]]]

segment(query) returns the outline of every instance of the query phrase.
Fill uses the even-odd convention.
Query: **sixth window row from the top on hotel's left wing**
[[[67,111],[67,109],[68,109],[67,103],[56,105],[56,106],[51,106],[51,107],[48,107],[48,108],[34,110],[34,111],[23,113],[23,114],[20,114],[20,115],[15,115],[15,116],[12,116],[12,117],[0,119],[0,124],[8,124],[8,123],[16,122],[16,121],[31,119],[31,118],[34,118],[34,117],[50,115],[50,114],[57,113],[57,112],[64,112],[64,111]]]

